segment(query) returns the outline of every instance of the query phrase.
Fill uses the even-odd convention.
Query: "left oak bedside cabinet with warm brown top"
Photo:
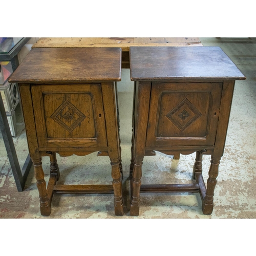
[[[32,49],[9,81],[18,82],[41,215],[49,216],[54,193],[113,193],[123,215],[116,81],[120,48]],[[56,153],[109,156],[113,185],[58,185]],[[46,186],[41,157],[50,157]],[[99,159],[100,161],[100,159]]]

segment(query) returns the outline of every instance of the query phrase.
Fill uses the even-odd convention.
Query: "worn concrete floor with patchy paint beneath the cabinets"
[[[117,219],[166,219],[205,218],[227,219],[256,218],[256,39],[255,38],[200,38],[204,46],[220,46],[233,60],[245,81],[237,81],[225,153],[219,167],[215,189],[214,211],[205,216],[201,210],[198,194],[141,194],[139,217],[129,214],[129,165],[132,135],[133,82],[130,70],[122,70],[122,81],[118,83],[121,147],[123,164],[123,189],[125,214],[114,215],[113,195],[59,195],[53,196],[50,217],[42,217],[33,167],[25,189],[17,192],[9,160],[0,137],[0,218],[117,218]],[[25,161],[28,150],[24,124],[17,111],[17,137],[14,143],[20,164]],[[1,136],[1,135],[0,135]],[[195,153],[173,160],[172,156],[157,153],[145,157],[142,183],[189,183],[192,176]],[[207,180],[210,156],[204,156],[204,179]],[[49,159],[43,158],[46,180],[49,179]],[[111,166],[108,157],[91,154],[85,157],[59,157],[58,165],[65,184],[111,184]]]

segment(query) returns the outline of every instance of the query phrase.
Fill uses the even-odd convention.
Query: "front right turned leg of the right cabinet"
[[[202,205],[203,214],[211,214],[212,210],[214,209],[214,189],[217,184],[220,160],[220,157],[215,158],[213,155],[211,156],[206,195],[204,197]]]

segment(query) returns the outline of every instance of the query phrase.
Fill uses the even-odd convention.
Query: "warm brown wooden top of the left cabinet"
[[[103,82],[121,80],[121,48],[32,49],[10,82]]]

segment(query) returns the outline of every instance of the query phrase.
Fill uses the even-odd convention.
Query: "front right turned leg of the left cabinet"
[[[122,198],[122,178],[119,168],[119,161],[111,160],[112,166],[112,178],[113,178],[113,189],[114,189],[114,206],[115,215],[123,216],[123,198]]]

